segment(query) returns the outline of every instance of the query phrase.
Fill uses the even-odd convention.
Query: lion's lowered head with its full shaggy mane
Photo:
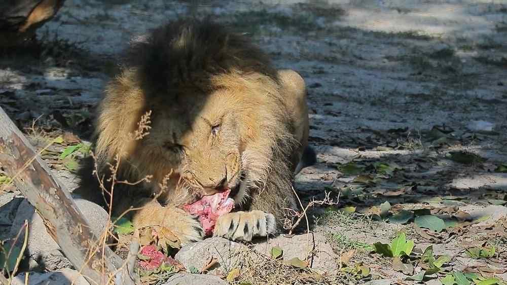
[[[100,164],[121,154],[120,173],[153,175],[155,192],[171,173],[172,203],[226,188],[239,203],[277,167],[274,156],[286,162],[295,142],[276,70],[243,36],[209,22],[175,22],[130,54],[99,105]],[[150,133],[127,139],[148,111]]]

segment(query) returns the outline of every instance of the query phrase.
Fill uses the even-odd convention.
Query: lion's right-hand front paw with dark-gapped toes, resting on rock
[[[216,221],[213,236],[250,241],[252,237],[276,232],[275,216],[259,210],[228,213]]]

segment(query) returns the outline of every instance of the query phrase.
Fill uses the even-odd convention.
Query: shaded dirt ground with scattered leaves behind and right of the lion
[[[86,145],[93,106],[128,41],[186,15],[247,33],[307,82],[318,163],[295,188],[304,203],[325,192],[339,199],[311,209],[312,230],[327,237],[340,268],[371,269],[342,270],[340,282],[419,282],[407,278],[428,266],[414,254],[402,258],[414,266],[403,272],[372,252],[401,231],[415,255],[433,244],[450,257],[420,282],[455,272],[507,281],[506,2],[67,0],[37,46],[0,55],[0,105],[38,147],[63,132],[76,135],[67,145]],[[79,155],[61,159],[65,145],[43,158],[73,189]],[[8,188],[0,205],[17,195]],[[427,229],[423,216],[445,228]],[[0,238],[9,228],[0,224]],[[467,251],[491,247],[488,257]]]

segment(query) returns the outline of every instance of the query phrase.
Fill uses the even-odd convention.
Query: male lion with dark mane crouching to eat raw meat
[[[284,211],[298,208],[294,175],[315,159],[301,76],[274,69],[248,38],[209,21],[171,22],[134,42],[97,112],[93,145],[105,188],[117,156],[117,181],[153,175],[116,184],[114,213],[142,206],[135,227],[167,227],[182,243],[204,237],[182,206],[225,189],[241,211],[221,216],[214,236],[278,232]],[[147,112],[149,134],[128,139]],[[80,170],[77,193],[104,204],[111,197],[93,165],[88,158]]]

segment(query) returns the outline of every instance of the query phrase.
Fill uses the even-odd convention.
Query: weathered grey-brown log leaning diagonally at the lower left
[[[0,166],[41,216],[48,233],[90,284],[135,284],[132,266],[101,245],[63,184],[0,108]],[[108,280],[110,280],[108,282]],[[111,282],[111,280],[113,280]]]

